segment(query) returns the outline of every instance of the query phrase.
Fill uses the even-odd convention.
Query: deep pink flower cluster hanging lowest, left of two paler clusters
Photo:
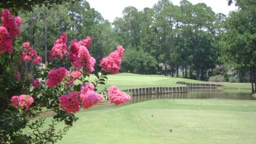
[[[67,95],[61,95],[59,98],[60,107],[68,114],[76,113],[79,111],[78,92],[74,91]]]

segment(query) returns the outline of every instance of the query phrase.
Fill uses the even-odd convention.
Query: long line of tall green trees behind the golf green
[[[239,76],[250,74],[253,78],[255,2],[234,2],[239,9],[227,17],[214,13],[204,3],[194,5],[183,0],[178,6],[169,0],[159,0],[142,11],[125,7],[123,17],[113,23],[103,19],[86,1],[53,5],[50,10],[35,7],[30,13],[18,12],[24,19],[20,41],[30,41],[45,62],[53,42],[65,32],[69,43],[74,38],[92,37],[90,51],[97,65],[118,44],[123,45],[124,72],[178,77],[182,70],[182,77],[206,80],[218,74],[214,73],[216,66],[224,64],[226,68],[234,68]],[[253,59],[247,59],[246,55]]]

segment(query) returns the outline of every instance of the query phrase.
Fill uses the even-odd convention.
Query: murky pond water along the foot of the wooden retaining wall
[[[153,99],[239,99],[253,100],[250,90],[190,89],[188,93],[133,95],[130,103]]]

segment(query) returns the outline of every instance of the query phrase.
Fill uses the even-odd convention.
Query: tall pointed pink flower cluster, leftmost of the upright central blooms
[[[62,60],[63,54],[68,53],[67,51],[67,34],[62,33],[60,37],[55,41],[52,50],[49,54],[49,59],[59,58]]]

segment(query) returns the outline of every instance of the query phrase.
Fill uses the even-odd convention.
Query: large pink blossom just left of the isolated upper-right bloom
[[[80,46],[78,50],[77,59],[74,61],[74,66],[76,70],[84,68],[88,74],[94,71],[94,65],[96,60],[91,57],[89,51],[85,46]]]

